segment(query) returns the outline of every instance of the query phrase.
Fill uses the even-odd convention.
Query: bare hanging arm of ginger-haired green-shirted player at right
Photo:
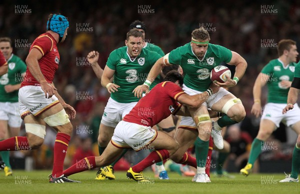
[[[251,113],[256,118],[261,114],[261,104],[260,104],[261,88],[266,84],[268,79],[269,79],[268,75],[264,73],[259,73],[253,86],[254,104],[252,105]]]

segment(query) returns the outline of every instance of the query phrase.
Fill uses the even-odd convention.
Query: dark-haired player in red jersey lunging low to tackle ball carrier
[[[85,157],[76,164],[63,171],[66,176],[84,170],[107,165],[114,161],[122,152],[121,148],[154,149],[145,159],[132,166],[127,176],[136,181],[147,182],[142,176],[142,170],[153,163],[167,159],[178,149],[178,143],[169,135],[151,129],[170,114],[189,115],[187,107],[197,107],[212,93],[218,91],[218,86],[201,94],[189,96],[184,93],[183,77],[177,71],[167,73],[164,81],[157,84],[151,91],[141,98],[133,109],[120,121],[114,129],[113,136],[104,152],[98,156]],[[196,167],[196,159],[184,153],[178,162]]]

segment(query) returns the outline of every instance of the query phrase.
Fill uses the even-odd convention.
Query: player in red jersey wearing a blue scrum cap
[[[19,89],[19,110],[24,119],[26,137],[15,136],[0,141],[0,151],[37,149],[44,141],[45,126],[57,131],[53,170],[49,182],[78,182],[62,174],[63,161],[73,127],[69,118],[76,111],[59,96],[52,83],[60,60],[57,43],[63,42],[69,23],[60,14],[50,14],[47,31],[31,44],[26,58],[27,70]]]

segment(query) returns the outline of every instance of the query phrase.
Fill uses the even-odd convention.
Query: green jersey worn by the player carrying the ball
[[[211,84],[210,71],[222,62],[228,63],[231,57],[232,53],[229,49],[209,43],[203,59],[199,60],[192,52],[190,43],[187,43],[172,50],[168,55],[168,62],[182,67],[184,85],[203,92]]]

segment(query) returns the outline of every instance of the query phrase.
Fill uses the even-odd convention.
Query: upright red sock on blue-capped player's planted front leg
[[[57,178],[62,175],[63,161],[65,158],[68,142],[70,136],[65,133],[57,133],[56,140],[54,143],[54,159],[53,159],[53,170],[52,176]]]

